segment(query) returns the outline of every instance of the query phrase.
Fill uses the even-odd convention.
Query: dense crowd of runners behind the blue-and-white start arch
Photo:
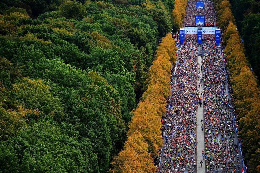
[[[195,16],[205,16],[205,24],[203,26],[217,25],[217,12],[211,0],[204,1],[204,9],[196,8],[196,0],[188,0],[183,27],[195,26]]]

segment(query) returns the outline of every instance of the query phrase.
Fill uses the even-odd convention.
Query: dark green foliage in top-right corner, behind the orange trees
[[[260,79],[260,1],[231,0],[238,30],[244,39],[248,60]]]

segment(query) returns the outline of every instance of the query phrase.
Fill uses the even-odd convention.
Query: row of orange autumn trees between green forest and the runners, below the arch
[[[152,157],[158,154],[162,145],[161,117],[165,112],[165,97],[170,95],[171,67],[177,59],[176,51],[172,35],[167,34],[149,69],[147,90],[132,111],[124,150],[114,158],[110,172],[155,172]]]

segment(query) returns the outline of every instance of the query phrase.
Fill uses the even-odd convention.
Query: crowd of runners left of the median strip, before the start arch
[[[197,41],[187,36],[178,52],[175,76],[172,75],[171,96],[162,119],[161,166],[158,172],[194,172],[197,125]]]

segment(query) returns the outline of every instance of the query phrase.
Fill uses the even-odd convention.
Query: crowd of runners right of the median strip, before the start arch
[[[225,70],[219,47],[210,35],[203,36],[203,101],[207,172],[236,172],[240,168],[235,125],[228,98]]]

